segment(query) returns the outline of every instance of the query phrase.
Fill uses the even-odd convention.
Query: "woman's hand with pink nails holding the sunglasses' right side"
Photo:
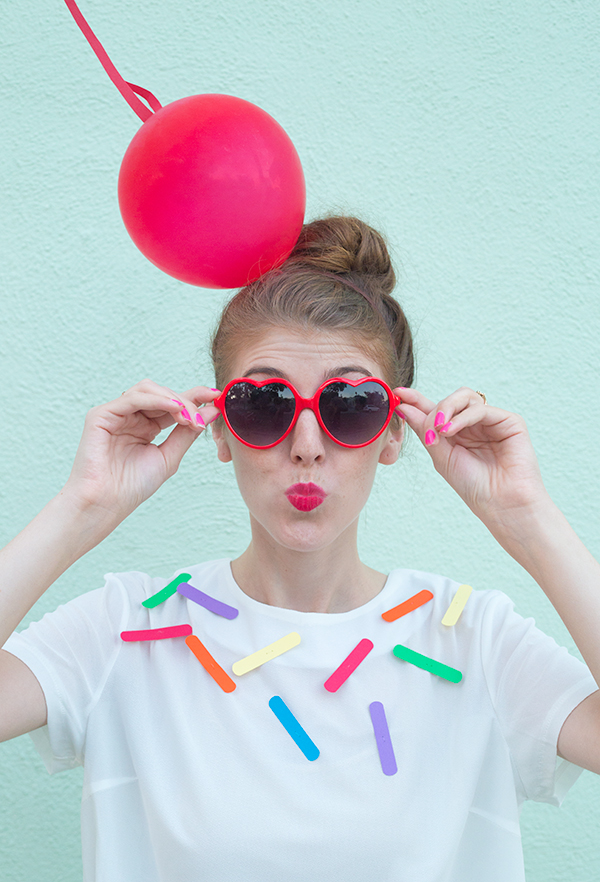
[[[547,504],[524,420],[458,389],[438,404],[416,389],[396,389],[397,408],[437,471],[484,523]]]

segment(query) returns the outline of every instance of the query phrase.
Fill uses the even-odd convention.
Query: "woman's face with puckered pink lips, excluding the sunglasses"
[[[301,396],[312,398],[331,377],[366,376],[381,377],[382,368],[348,333],[271,328],[240,347],[229,379],[282,377]],[[377,463],[395,462],[402,441],[401,428],[388,428],[366,447],[342,447],[323,432],[308,409],[280,444],[266,450],[242,444],[222,420],[213,427],[213,435],[219,459],[233,461],[253,538],[262,536],[296,551],[325,548],[355,534]],[[323,501],[315,506],[320,493]]]

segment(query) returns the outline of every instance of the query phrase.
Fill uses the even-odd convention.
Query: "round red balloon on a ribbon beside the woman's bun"
[[[288,135],[231,95],[192,95],[156,111],[119,172],[127,231],[159,269],[204,288],[238,288],[289,256],[306,189]]]

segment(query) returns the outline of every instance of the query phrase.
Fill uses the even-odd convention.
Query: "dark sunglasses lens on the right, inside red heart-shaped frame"
[[[327,430],[342,444],[367,444],[385,426],[390,399],[379,383],[360,386],[330,383],[319,397],[319,412]]]

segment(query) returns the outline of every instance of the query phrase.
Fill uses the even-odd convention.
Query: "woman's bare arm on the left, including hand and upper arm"
[[[0,647],[62,573],[175,474],[218,415],[210,404],[217,394],[199,386],[178,396],[146,380],[89,412],[64,488],[0,551]],[[161,444],[152,443],[174,424]],[[0,741],[43,725],[45,715],[29,668],[0,651]]]

